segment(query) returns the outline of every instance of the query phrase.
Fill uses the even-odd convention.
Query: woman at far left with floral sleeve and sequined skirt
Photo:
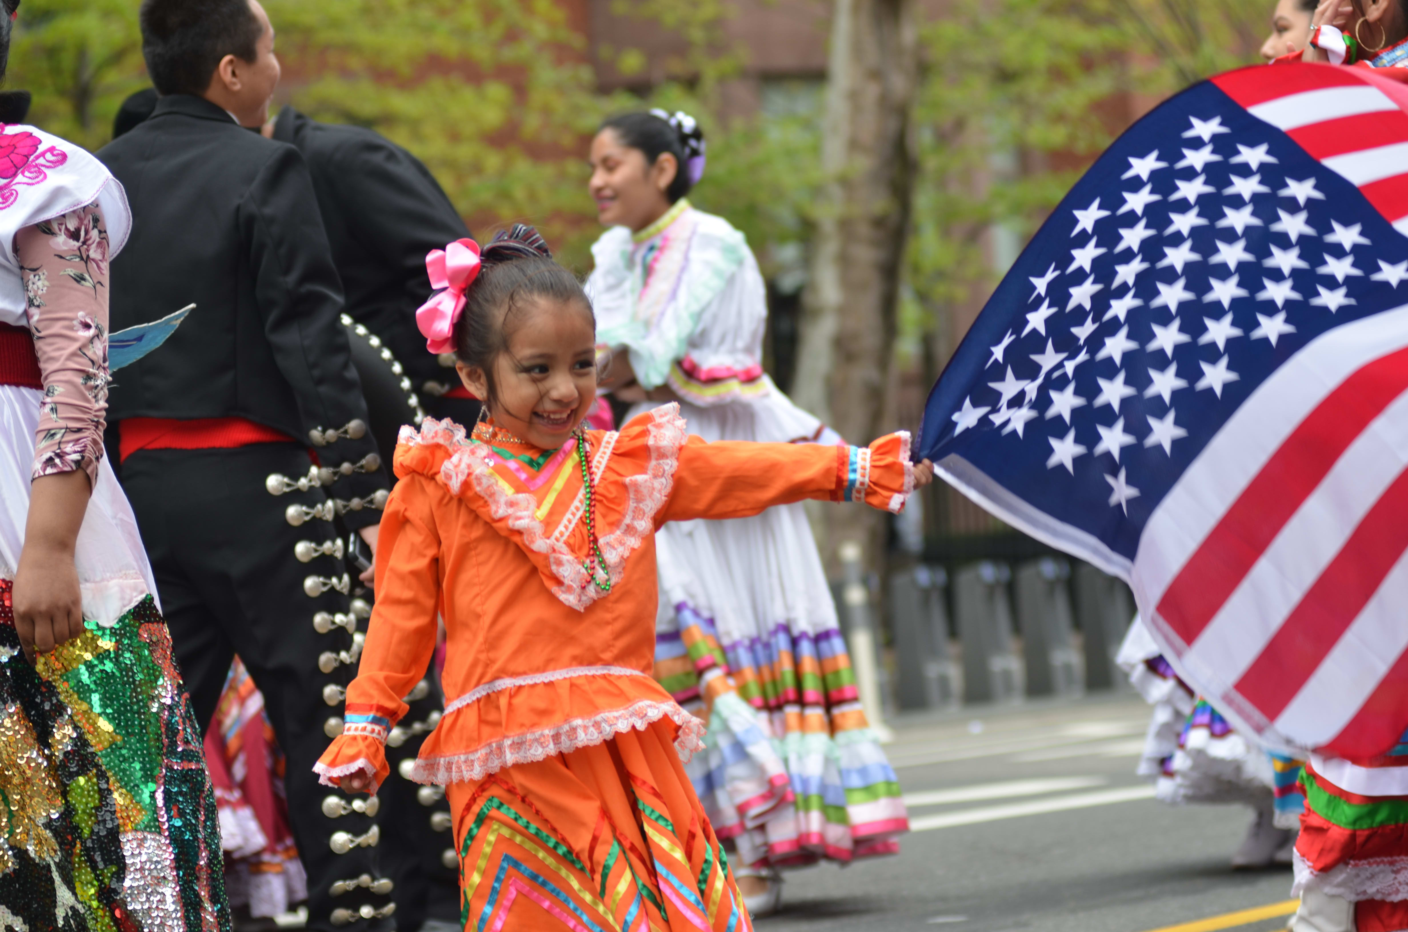
[[[3,929],[231,925],[200,729],[103,455],[108,262],[130,225],[97,159],[0,125]]]

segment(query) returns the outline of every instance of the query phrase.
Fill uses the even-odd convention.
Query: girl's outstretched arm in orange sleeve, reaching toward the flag
[[[932,479],[928,460],[910,462],[910,435],[903,431],[870,446],[707,443],[690,436],[680,448],[670,501],[656,521],[745,518],[805,498],[865,501],[900,512],[910,493]]]

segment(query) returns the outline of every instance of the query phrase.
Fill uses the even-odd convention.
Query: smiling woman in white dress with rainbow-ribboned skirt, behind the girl
[[[607,387],[631,417],[679,401],[705,441],[838,442],[763,372],[767,303],[742,232],[690,206],[704,139],[687,114],[608,120],[591,197],[610,229],[587,282]],[[777,902],[777,867],[898,850],[894,770],[857,701],[801,505],[666,525],[656,535],[656,679],[710,722],[691,777],[739,853],[749,908]]]

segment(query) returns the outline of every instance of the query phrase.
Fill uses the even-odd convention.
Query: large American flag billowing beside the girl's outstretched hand
[[[1267,743],[1408,726],[1408,87],[1277,65],[1125,132],[1036,234],[919,455],[1129,581]]]

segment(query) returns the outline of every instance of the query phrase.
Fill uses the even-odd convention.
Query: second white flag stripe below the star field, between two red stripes
[[[1183,663],[1219,694],[1236,683],[1408,463],[1408,393],[1354,438],[1188,648]],[[1356,707],[1357,708],[1357,707]]]

